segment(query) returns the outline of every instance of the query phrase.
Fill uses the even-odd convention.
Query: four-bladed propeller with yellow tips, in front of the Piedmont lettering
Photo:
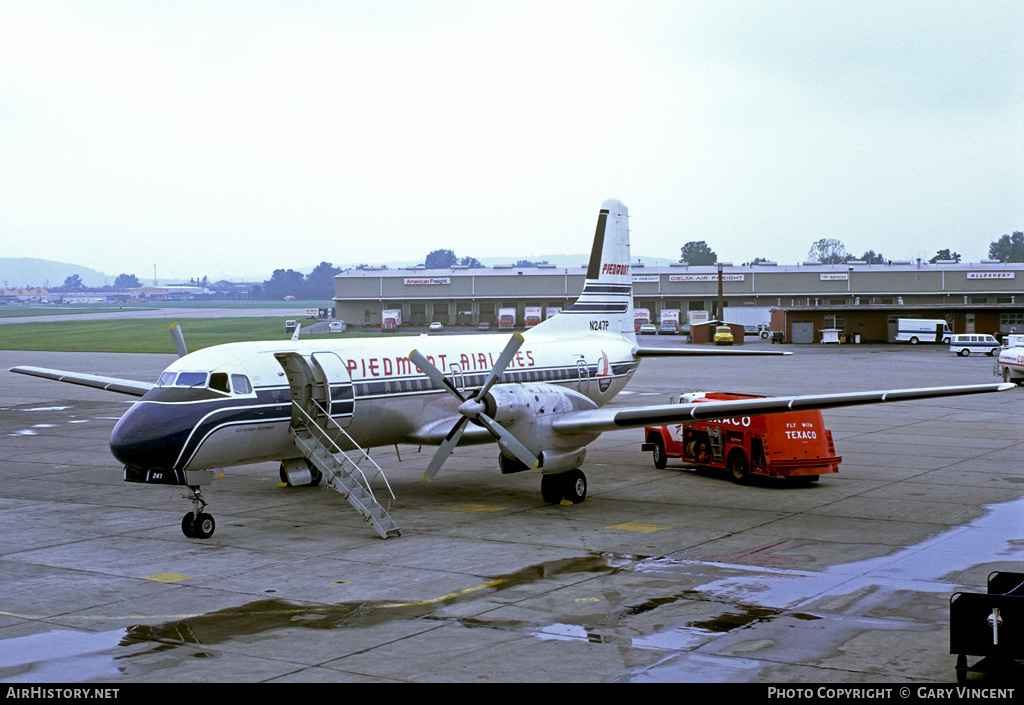
[[[500,423],[495,421],[493,418],[487,416],[484,412],[486,408],[483,402],[484,397],[490,387],[495,385],[501,376],[505,372],[505,368],[508,367],[509,363],[515,357],[516,352],[519,351],[519,347],[523,343],[523,337],[519,333],[513,333],[512,339],[508,341],[505,345],[505,349],[502,350],[501,355],[498,356],[498,362],[495,363],[494,368],[487,373],[486,378],[483,380],[483,385],[480,386],[476,392],[469,399],[462,396],[459,389],[456,388],[455,384],[447,376],[434,367],[419,350],[413,350],[409,354],[409,359],[418,368],[423,370],[423,372],[433,381],[437,386],[440,386],[449,391],[449,393],[455,396],[462,402],[459,405],[459,413],[462,414],[462,418],[456,421],[455,425],[452,426],[452,430],[449,434],[444,437],[444,441],[441,442],[437,449],[437,453],[430,460],[430,464],[427,466],[426,472],[423,473],[423,478],[429,483],[437,474],[437,471],[447,460],[449,456],[452,455],[452,451],[455,447],[459,445],[459,441],[462,439],[462,434],[466,430],[466,424],[470,421],[477,421],[481,426],[486,428],[492,436],[498,441],[499,447],[502,450],[514,455],[520,462],[527,465],[530,469],[536,468],[540,464],[537,456],[529,452],[522,443],[519,442],[511,432],[502,427]]]

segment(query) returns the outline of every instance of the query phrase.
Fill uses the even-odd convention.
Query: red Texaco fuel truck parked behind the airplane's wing
[[[765,398],[698,391],[680,396],[679,403],[753,399]],[[653,453],[655,467],[665,467],[669,458],[682,458],[688,464],[727,470],[737,483],[754,474],[815,482],[839,472],[843,460],[816,409],[647,426],[644,440],[641,449]]]

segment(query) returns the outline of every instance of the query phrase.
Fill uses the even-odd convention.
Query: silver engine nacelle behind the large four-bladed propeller
[[[597,409],[597,405],[578,391],[554,384],[498,384],[484,399],[484,413],[516,437],[541,459],[545,472],[565,472],[583,464],[588,443],[600,433],[565,436],[552,429],[560,414]],[[503,455],[503,472],[516,472],[518,461]]]

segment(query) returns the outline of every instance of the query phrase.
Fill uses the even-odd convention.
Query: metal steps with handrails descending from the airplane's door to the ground
[[[293,411],[298,413],[293,414],[289,430],[296,447],[324,475],[325,490],[341,493],[341,496],[359,512],[362,521],[370,524],[382,539],[400,536],[401,530],[388,513],[394,493],[391,492],[384,471],[374,462],[370,454],[359,448],[348,432],[331,418],[330,414],[324,412],[319,405],[314,404],[314,406],[319,409],[319,413],[311,416],[293,402]],[[349,444],[355,447],[352,451],[355,459],[336,443],[335,439],[339,436],[347,439]],[[369,479],[364,468],[370,472]],[[390,499],[387,500],[388,507],[382,505],[374,495],[372,485],[378,479],[383,480],[384,488],[390,495]]]

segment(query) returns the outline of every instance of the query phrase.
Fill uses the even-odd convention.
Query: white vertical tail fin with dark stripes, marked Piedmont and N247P
[[[622,201],[601,204],[594,246],[580,298],[531,332],[606,331],[636,340],[633,330],[633,279],[630,275],[629,211]]]

